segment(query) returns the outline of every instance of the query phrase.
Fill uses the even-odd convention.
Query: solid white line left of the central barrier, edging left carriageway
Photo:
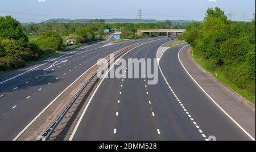
[[[108,56],[107,56],[107,57],[108,57]],[[100,62],[100,61],[99,61],[99,62]],[[98,64],[98,62],[97,62],[96,64]],[[93,66],[95,66],[96,64],[94,64]],[[88,70],[92,69],[93,66],[91,66]],[[86,70],[82,75],[84,75],[88,70]],[[41,111],[41,112],[40,112],[40,113],[39,113],[22,131],[21,131],[21,132],[19,132],[19,134],[13,139],[13,141],[16,141],[16,140],[27,130],[27,128],[28,128],[32,123],[34,123],[34,121],[35,121],[36,119],[38,119],[38,117],[39,117],[40,115],[42,115],[42,113],[43,113],[44,111],[46,111],[46,109],[47,109],[49,106],[51,106],[51,104],[52,104],[53,102],[55,102],[55,100],[57,100],[66,90],[68,90],[69,87],[71,87],[77,80],[79,80],[79,79],[82,77],[82,75],[80,75],[79,78],[77,78],[74,82],[72,82],[71,85],[69,85],[67,88],[65,88],[65,90],[62,91],[55,99],[53,99],[52,102],[49,103],[49,104],[47,105],[47,107],[43,109],[43,111]]]

